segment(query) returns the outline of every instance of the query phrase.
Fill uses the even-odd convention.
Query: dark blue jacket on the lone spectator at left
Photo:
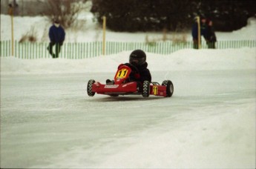
[[[65,30],[60,25],[56,27],[53,24],[49,30],[49,38],[50,42],[62,44],[65,40]]]

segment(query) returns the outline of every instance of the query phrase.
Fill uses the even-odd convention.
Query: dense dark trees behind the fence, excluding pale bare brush
[[[195,16],[214,22],[215,30],[244,27],[255,16],[255,0],[92,0],[91,12],[115,31],[159,31],[190,29]]]

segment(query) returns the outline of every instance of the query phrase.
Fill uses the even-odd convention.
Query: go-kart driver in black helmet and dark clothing
[[[133,72],[130,74],[129,79],[136,82],[143,83],[144,81],[151,82],[151,73],[148,70],[148,63],[146,62],[146,55],[143,50],[134,50],[129,57],[129,64],[133,64],[137,67],[137,73]],[[119,67],[124,64],[119,64]],[[106,81],[107,84],[113,83],[111,80]]]

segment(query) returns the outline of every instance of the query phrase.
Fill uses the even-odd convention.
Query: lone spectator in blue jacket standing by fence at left
[[[62,44],[65,40],[65,30],[63,27],[59,24],[58,20],[55,20],[53,25],[49,29],[49,38],[50,38],[50,44],[47,47],[47,50],[49,50],[49,53],[53,58],[59,57],[59,52],[62,47]],[[53,53],[53,46],[56,45],[56,52]]]

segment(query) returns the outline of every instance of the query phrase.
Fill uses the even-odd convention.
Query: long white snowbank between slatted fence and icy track
[[[91,59],[17,59],[1,58],[1,74],[45,74],[115,72],[120,63],[128,62],[131,51]],[[147,53],[151,71],[172,70],[246,70],[255,69],[255,48],[229,50],[179,50],[171,55]]]

